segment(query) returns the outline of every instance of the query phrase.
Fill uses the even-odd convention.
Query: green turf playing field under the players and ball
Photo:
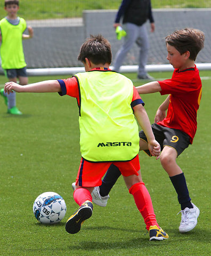
[[[150,75],[158,80],[171,77],[171,73]],[[149,242],[149,235],[144,235],[143,219],[121,177],[110,192],[107,207],[94,205],[93,216],[81,231],[66,233],[66,220],[78,208],[71,188],[80,161],[76,99],[57,93],[17,94],[22,116],[6,114],[0,99],[0,255],[210,255],[211,71],[200,71],[200,75],[203,91],[197,134],[193,145],[178,158],[192,201],[200,209],[198,225],[188,234],[178,233],[180,206],[167,174],[155,158],[139,154],[158,223],[169,235],[161,242]],[[140,85],[136,74],[127,76]],[[55,78],[61,77],[29,77],[29,82]],[[5,82],[0,76],[1,87]],[[142,99],[153,122],[165,97],[155,93]],[[34,217],[34,200],[46,191],[59,193],[66,201],[67,214],[58,225],[41,225]]]

